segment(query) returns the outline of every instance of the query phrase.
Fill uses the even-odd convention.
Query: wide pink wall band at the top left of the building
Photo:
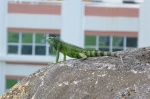
[[[8,13],[60,15],[61,5],[60,4],[9,3]]]

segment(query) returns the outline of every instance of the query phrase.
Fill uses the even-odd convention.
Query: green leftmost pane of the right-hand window
[[[85,36],[85,45],[96,45],[96,36]]]

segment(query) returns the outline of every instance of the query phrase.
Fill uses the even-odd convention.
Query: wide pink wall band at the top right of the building
[[[138,8],[121,7],[85,7],[86,16],[107,16],[107,17],[139,17]]]

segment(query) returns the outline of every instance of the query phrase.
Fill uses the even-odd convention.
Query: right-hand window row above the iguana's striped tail
[[[136,37],[85,36],[86,49],[120,51],[136,47]]]

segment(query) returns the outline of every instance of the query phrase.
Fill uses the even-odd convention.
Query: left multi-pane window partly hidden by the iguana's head
[[[40,33],[8,33],[8,54],[15,55],[55,55],[49,49],[46,38],[59,36],[56,34]]]

